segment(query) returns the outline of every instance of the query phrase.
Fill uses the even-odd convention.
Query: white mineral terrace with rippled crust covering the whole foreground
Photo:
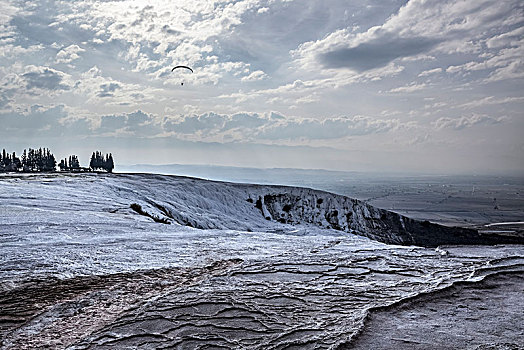
[[[328,349],[351,348],[359,334],[361,348],[381,348],[368,331],[386,326],[377,323],[383,308],[433,295],[436,306],[391,310],[406,327],[416,315],[411,324],[420,332],[439,331],[434,325],[447,325],[449,315],[428,311],[442,306],[438,291],[453,300],[462,290],[470,293],[460,294],[463,305],[499,315],[508,332],[466,339],[442,328],[427,343],[409,332],[395,339],[416,349],[443,348],[443,337],[473,347],[521,342],[522,293],[514,291],[523,287],[522,245],[435,249],[353,234],[372,229],[370,222],[381,230],[387,217],[346,197],[282,186],[160,175],[3,176],[2,349]],[[502,282],[489,282],[499,275]],[[476,292],[462,283],[484,279],[506,285],[508,298],[490,284],[478,301],[464,296]],[[493,307],[484,302],[495,295]],[[452,306],[442,310],[457,315]]]

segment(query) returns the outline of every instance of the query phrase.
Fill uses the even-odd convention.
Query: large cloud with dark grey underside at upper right
[[[351,28],[339,29],[303,43],[293,54],[308,68],[321,65],[363,72],[429,52],[478,52],[478,40],[488,29],[498,29],[501,21],[518,23],[515,12],[522,12],[518,1],[502,6],[489,0],[411,0],[382,25],[356,34]]]

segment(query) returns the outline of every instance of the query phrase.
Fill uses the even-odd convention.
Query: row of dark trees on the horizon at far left
[[[81,167],[78,157],[70,155],[62,159],[58,165],[61,171],[107,171],[112,172],[115,168],[111,153],[105,156],[102,152],[93,152],[89,167]],[[20,157],[16,153],[8,153],[4,149],[0,154],[0,172],[50,172],[56,171],[56,159],[48,148],[25,150]]]

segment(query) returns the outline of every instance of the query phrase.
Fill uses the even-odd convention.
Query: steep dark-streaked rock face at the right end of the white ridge
[[[518,237],[482,235],[474,229],[413,220],[356,199],[308,189],[295,188],[292,192],[266,194],[258,198],[256,206],[266,219],[286,224],[307,222],[388,244],[436,247],[524,241]]]

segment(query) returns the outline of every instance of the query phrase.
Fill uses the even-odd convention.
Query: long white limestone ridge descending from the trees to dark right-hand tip
[[[346,196],[301,187],[239,184],[155,174],[47,174],[14,176],[31,182],[39,196],[68,203],[67,210],[100,210],[115,220],[177,225],[195,229],[317,234],[338,230],[386,244],[524,244],[506,231],[479,232],[410,219]],[[36,181],[36,183],[34,182]],[[64,196],[64,188],[76,196]],[[85,198],[84,193],[90,193]],[[62,197],[63,196],[63,197]],[[47,202],[50,203],[50,202]],[[106,217],[106,216],[104,216]],[[316,230],[316,231],[315,231]],[[316,232],[316,233],[315,233]]]

